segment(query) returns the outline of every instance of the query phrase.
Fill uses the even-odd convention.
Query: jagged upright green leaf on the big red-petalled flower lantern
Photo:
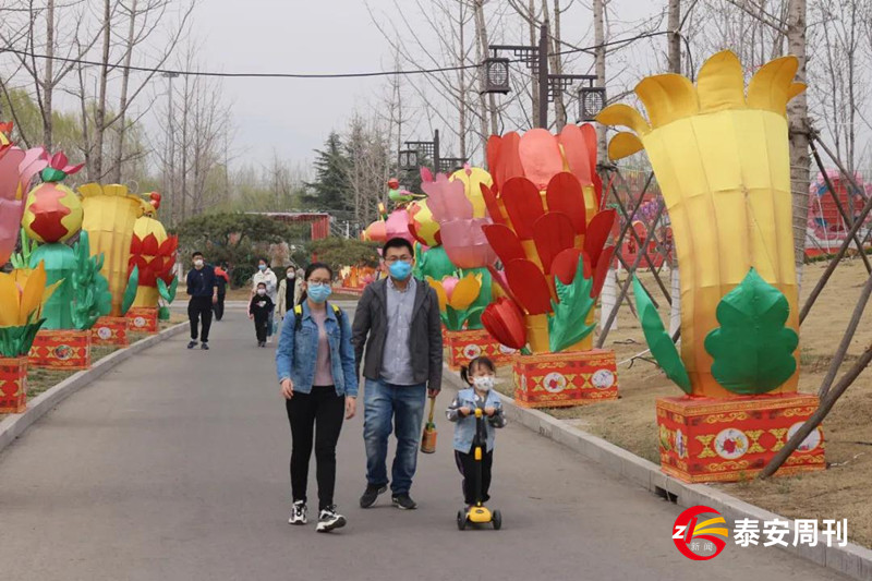
[[[569,285],[554,278],[554,288],[560,302],[552,301],[554,315],[548,315],[548,348],[559,353],[588,337],[596,325],[585,325],[588,314],[596,303],[591,299],[592,278],[584,278],[584,259],[579,256],[576,277]]]

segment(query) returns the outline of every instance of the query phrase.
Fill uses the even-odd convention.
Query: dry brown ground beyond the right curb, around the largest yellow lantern
[[[807,265],[802,290],[811,291],[825,263]],[[669,285],[668,270],[664,282]],[[650,275],[641,277],[661,303],[661,316],[668,327],[668,304],[658,294]],[[802,325],[800,334],[800,391],[816,394],[833,353],[848,325],[860,289],[867,279],[862,262],[849,259],[836,269],[824,292]],[[632,287],[631,287],[632,289]],[[844,372],[872,341],[872,310],[863,319],[843,365]],[[630,358],[646,349],[639,322],[629,308],[621,308],[618,330],[606,346],[619,362],[620,399],[614,402],[547,410],[633,453],[659,463],[654,401],[658,397],[680,396],[653,363]],[[840,374],[839,374],[840,376]],[[838,377],[838,376],[837,376]],[[504,383],[511,389],[510,383]],[[716,485],[756,506],[788,518],[848,519],[850,542],[872,546],[872,371],[865,371],[833,408],[824,422],[826,471],[799,476],[779,476],[766,482],[751,481]]]

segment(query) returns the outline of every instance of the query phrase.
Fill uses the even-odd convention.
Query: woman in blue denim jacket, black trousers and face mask
[[[336,511],[336,444],[342,419],[356,410],[358,376],[348,315],[327,302],[334,273],[313,263],[304,273],[304,292],[286,317],[276,351],[276,370],[291,424],[291,493],[288,522],[305,524],[306,483],[313,433],[318,481],[318,524],[329,532],[346,525]],[[291,315],[293,318],[290,318]]]

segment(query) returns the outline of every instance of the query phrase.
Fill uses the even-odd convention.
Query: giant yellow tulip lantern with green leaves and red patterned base
[[[816,408],[797,394],[797,276],[787,102],[806,89],[788,56],[762,66],[746,90],[739,59],[708,59],[697,85],[666,74],[635,88],[647,120],[613,105],[598,121],[622,125],[620,159],[642,149],[669,213],[681,287],[681,352],[640,285],[645,338],[685,392],[657,400],[664,471],[688,481],[747,477]],[[822,469],[812,433],[779,473]]]

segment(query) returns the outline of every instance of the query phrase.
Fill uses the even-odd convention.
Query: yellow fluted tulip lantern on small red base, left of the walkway
[[[94,327],[98,343],[126,344],[124,315],[133,304],[138,288],[138,268],[129,269],[131,242],[136,219],[143,215],[143,201],[119,184],[87,183],[78,187],[85,218],[82,229],[88,233],[92,256],[104,255],[100,273],[109,281],[112,307]]]

